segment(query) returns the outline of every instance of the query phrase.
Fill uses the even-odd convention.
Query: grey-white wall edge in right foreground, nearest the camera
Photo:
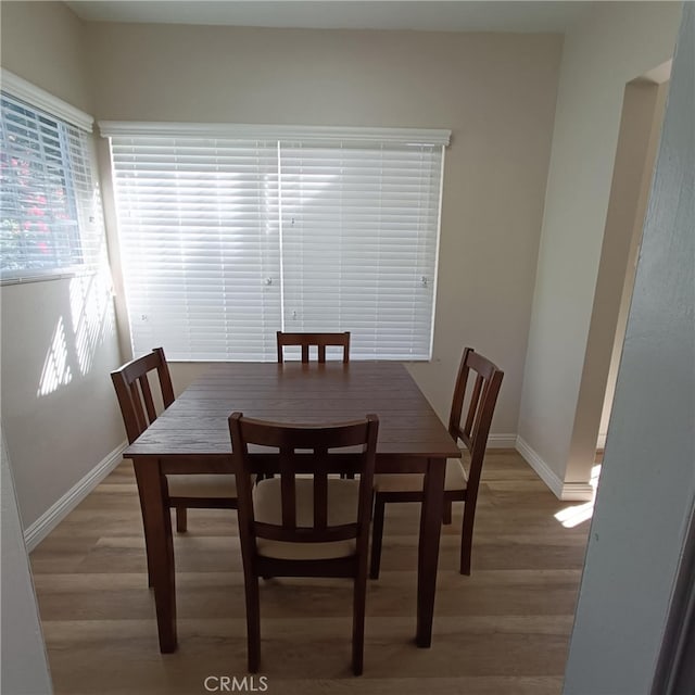
[[[695,5],[685,3],[566,695],[652,692],[695,505],[694,66]]]

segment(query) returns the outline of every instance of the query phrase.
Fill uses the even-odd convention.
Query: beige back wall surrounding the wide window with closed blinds
[[[556,35],[88,25],[103,119],[451,128],[431,364],[447,416],[463,346],[505,370],[495,435],[514,444],[547,177]],[[166,348],[166,345],[165,345]],[[182,388],[193,366],[175,366]]]

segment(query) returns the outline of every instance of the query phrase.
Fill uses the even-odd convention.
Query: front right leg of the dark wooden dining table
[[[418,647],[429,647],[432,643],[439,536],[444,510],[445,468],[445,458],[430,458],[425,475],[417,566],[417,634],[415,640]]]

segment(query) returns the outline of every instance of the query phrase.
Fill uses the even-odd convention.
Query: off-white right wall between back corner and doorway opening
[[[595,3],[565,40],[518,431],[567,496],[590,492],[598,433],[573,440],[624,88],[671,56],[679,18],[679,3]]]

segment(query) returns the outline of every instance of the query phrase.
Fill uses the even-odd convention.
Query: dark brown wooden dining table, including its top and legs
[[[417,565],[416,643],[429,647],[437,586],[446,458],[458,446],[396,362],[218,363],[124,452],[134,462],[154,590],[160,650],[176,649],[176,584],[167,473],[230,473],[227,418],[279,422],[379,417],[376,471],[425,473]]]

